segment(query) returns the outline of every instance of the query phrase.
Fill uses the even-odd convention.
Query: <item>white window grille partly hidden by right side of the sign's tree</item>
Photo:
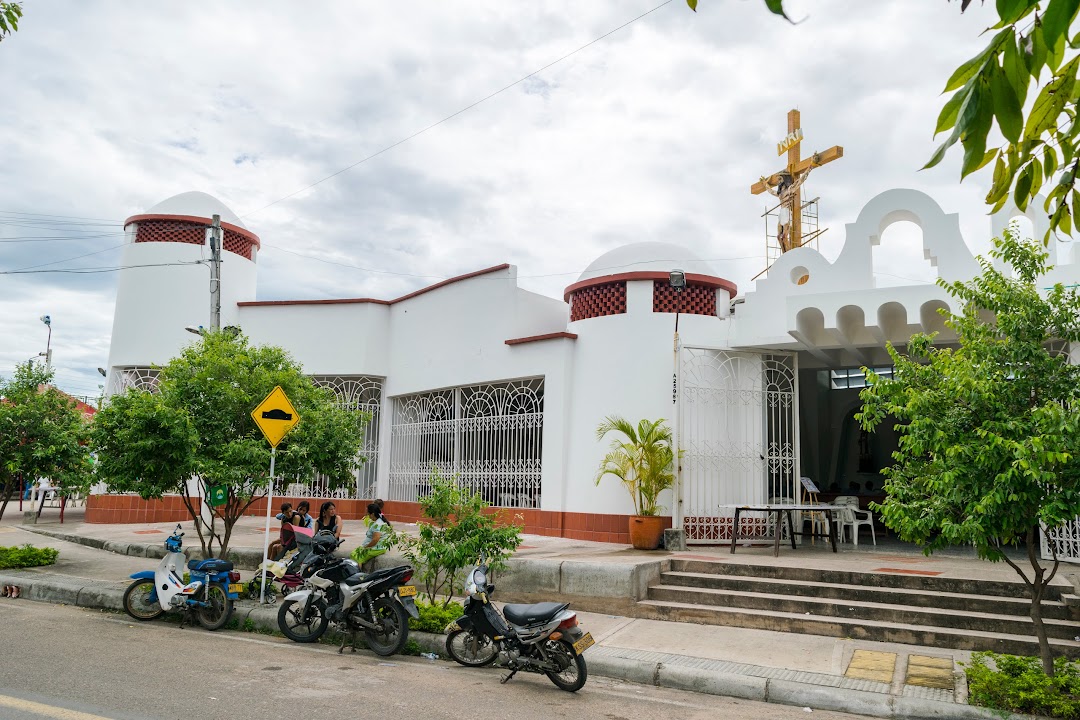
[[[357,500],[375,499],[375,478],[379,466],[379,418],[382,405],[382,379],[357,377],[341,377],[315,375],[311,380],[334,392],[338,407],[348,410],[362,410],[372,416],[370,422],[364,429],[364,444],[360,449],[363,460],[355,472],[352,487],[329,490],[329,480],[325,475],[316,474],[311,483],[291,483],[284,488],[284,494],[289,498],[355,498]]]

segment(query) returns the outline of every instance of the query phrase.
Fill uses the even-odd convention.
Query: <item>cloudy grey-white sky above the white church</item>
[[[826,257],[895,187],[988,246],[988,178],[960,185],[959,154],[918,168],[994,3],[788,0],[792,26],[761,0],[671,0],[634,21],[660,2],[24,0],[0,42],[0,372],[45,349],[48,313],[58,384],[96,395],[117,273],[11,271],[114,268],[123,219],[187,190],[262,239],[259,299],[392,298],[500,262],[562,297],[644,240],[745,291],[765,267],[748,187],[779,169],[793,107],[804,154],[845,148],[807,184]],[[875,268],[934,276],[903,223]]]

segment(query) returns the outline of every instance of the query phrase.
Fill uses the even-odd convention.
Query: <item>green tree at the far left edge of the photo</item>
[[[49,478],[62,495],[84,492],[92,483],[87,423],[51,380],[49,370],[29,362],[0,382],[0,518],[24,480]]]

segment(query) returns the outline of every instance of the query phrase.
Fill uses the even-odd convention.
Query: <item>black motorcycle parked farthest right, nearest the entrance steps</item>
[[[595,643],[568,610],[570,603],[504,604],[500,614],[490,600],[495,585],[487,580],[482,559],[465,581],[464,614],[446,626],[449,656],[468,667],[499,660],[510,670],[503,683],[525,670],[546,675],[561,690],[581,690],[589,677],[581,653]]]

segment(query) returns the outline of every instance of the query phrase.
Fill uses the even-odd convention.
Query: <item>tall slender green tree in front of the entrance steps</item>
[[[865,370],[868,386],[856,418],[874,430],[894,419],[899,449],[883,471],[886,500],[875,510],[902,540],[930,554],[973,545],[981,558],[1004,561],[1024,580],[1042,666],[1054,663],[1041,601],[1057,572],[1039,558],[1040,526],[1054,529],[1080,515],[1080,367],[1064,342],[1080,341],[1080,297],[1044,285],[1047,254],[1015,228],[995,240],[970,282],[939,284],[960,313],[942,311],[954,348],[915,335],[907,356],[889,345],[892,379]],[[1053,547],[1053,543],[1050,543]],[[1004,549],[1025,546],[1025,571]]]

